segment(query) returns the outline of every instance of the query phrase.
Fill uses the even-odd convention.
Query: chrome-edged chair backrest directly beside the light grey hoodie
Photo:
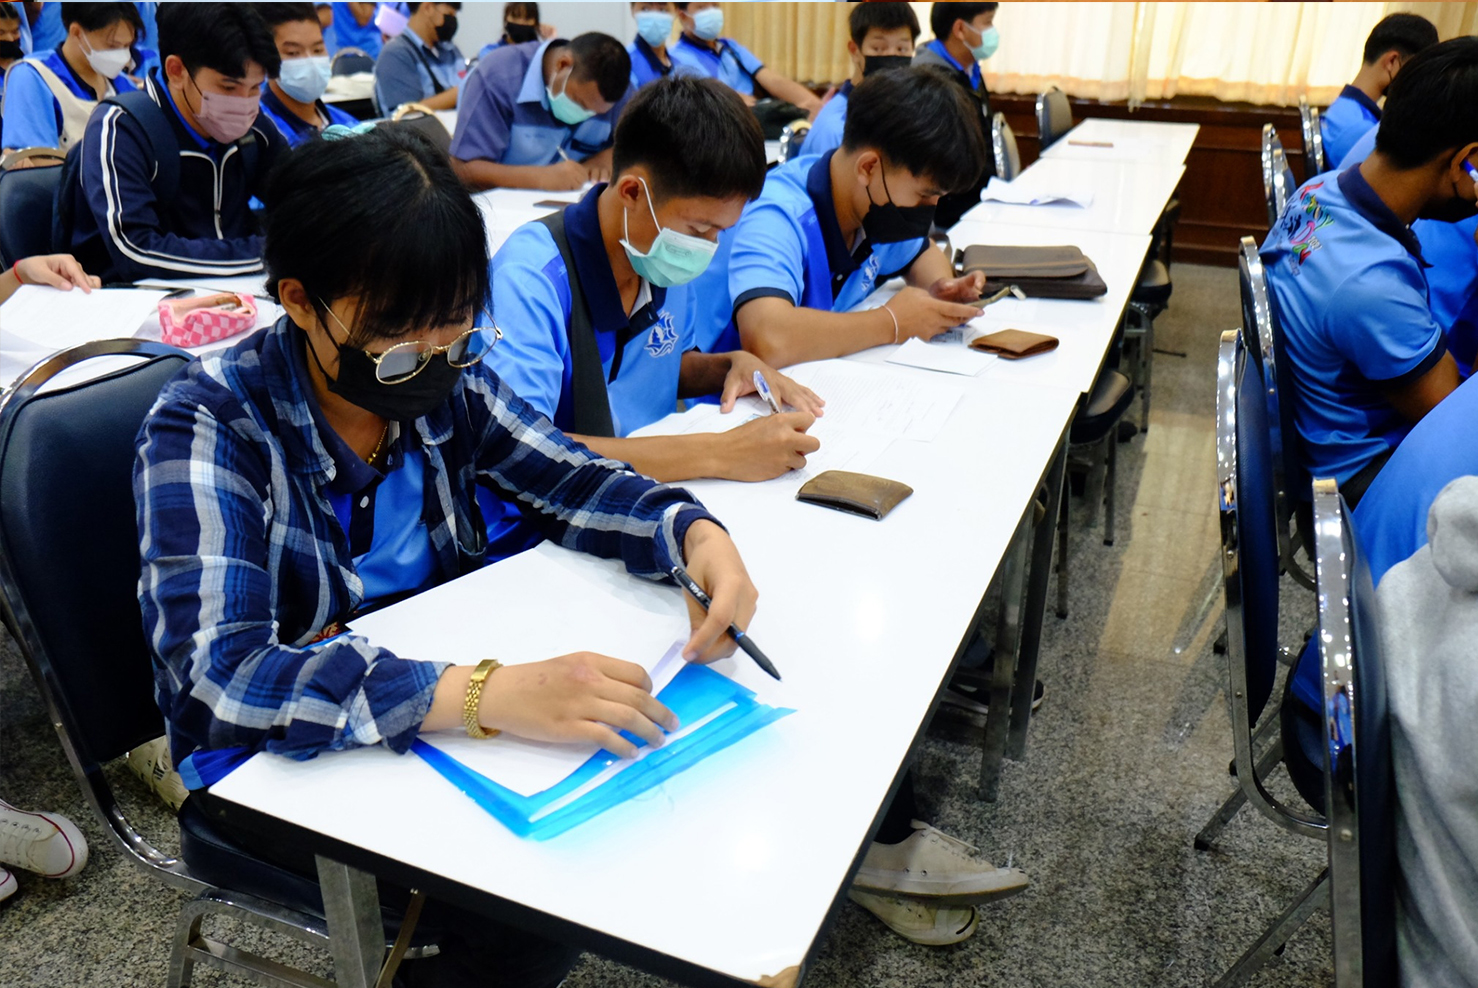
[[[1375,586],[1335,481],[1314,481],[1336,988],[1395,985],[1395,772]]]

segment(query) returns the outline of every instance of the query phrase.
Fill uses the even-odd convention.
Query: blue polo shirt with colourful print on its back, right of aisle
[[[1262,244],[1312,476],[1348,481],[1410,432],[1385,390],[1447,352],[1422,246],[1360,169],[1299,188]]]

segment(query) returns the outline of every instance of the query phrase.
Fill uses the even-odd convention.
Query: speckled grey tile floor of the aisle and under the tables
[[[1224,670],[1212,652],[1221,621],[1212,402],[1216,337],[1239,311],[1234,271],[1176,265],[1174,277],[1157,343],[1185,356],[1156,356],[1151,429],[1120,447],[1117,543],[1103,546],[1101,528],[1073,531],[1072,612],[1046,618],[1048,697],[1027,759],[1007,765],[995,805],[975,799],[970,745],[931,737],[918,759],[927,815],[993,859],[1011,858],[1032,889],[986,907],[975,936],[943,950],[907,944],[847,905],[808,987],[1210,985],[1320,870],[1320,845],[1252,812],[1213,850],[1191,847],[1231,791]],[[1286,600],[1295,606],[1284,640],[1295,640],[1312,598]],[[168,813],[115,775],[140,830],[167,846]],[[0,796],[68,813],[92,842],[80,876],[21,874],[0,905],[0,985],[163,985],[183,896],[103,842],[9,639],[0,640]],[[328,973],[327,957],[291,941],[232,935]],[[1332,981],[1329,923],[1315,916],[1252,985]],[[197,982],[239,984],[204,970]],[[662,984],[593,955],[568,982]]]

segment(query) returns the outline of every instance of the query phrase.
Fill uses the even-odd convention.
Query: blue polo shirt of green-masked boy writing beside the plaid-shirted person
[[[625,436],[677,407],[683,353],[693,348],[686,285],[646,285],[628,317],[600,235],[597,200],[605,185],[565,209],[600,361],[615,433]],[[492,259],[492,312],[503,340],[488,362],[526,402],[560,429],[573,426],[573,359],[569,346],[571,275],[544,223],[525,223]],[[643,299],[646,302],[643,303]]]

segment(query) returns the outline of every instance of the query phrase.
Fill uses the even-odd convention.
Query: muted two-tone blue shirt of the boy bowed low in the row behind
[[[612,132],[627,108],[631,89],[603,114],[578,127],[560,123],[550,112],[544,86],[544,50],[568,44],[562,38],[504,44],[488,52],[467,77],[457,108],[452,157],[482,158],[500,164],[554,164],[565,148],[582,161],[610,146]]]

